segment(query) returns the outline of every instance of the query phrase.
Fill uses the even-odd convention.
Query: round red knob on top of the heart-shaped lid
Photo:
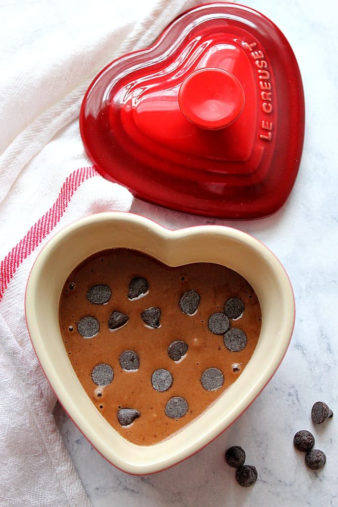
[[[244,90],[233,74],[222,69],[200,69],[182,83],[178,102],[194,125],[220,129],[231,125],[244,107]]]

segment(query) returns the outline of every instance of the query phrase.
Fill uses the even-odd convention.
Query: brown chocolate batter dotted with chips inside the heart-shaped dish
[[[140,291],[146,292],[131,298],[129,286],[135,278],[145,287]],[[192,315],[180,306],[186,293],[193,294],[198,304]],[[240,308],[241,302],[244,305],[240,317],[229,318],[233,340],[245,333],[240,351],[229,350],[227,339],[208,327],[210,316],[222,314],[231,298],[240,300]],[[156,313],[156,327],[142,318],[149,308]],[[102,416],[129,441],[151,445],[189,424],[238,378],[257,345],[261,308],[247,281],[229,268],[211,263],[173,268],[142,252],[115,248],[95,254],[70,274],[60,298],[59,319],[74,371]],[[93,324],[94,335],[83,337],[81,333],[91,334]],[[175,361],[168,348],[176,341],[184,342],[187,350],[180,344]],[[134,358],[135,367],[130,367],[134,369],[122,368],[120,357],[126,351],[122,357]],[[98,365],[103,365],[101,370]],[[172,377],[163,391],[152,385],[157,370]],[[203,378],[208,382],[202,383],[207,370]],[[156,375],[170,378],[167,373]],[[176,412],[166,409],[168,402]],[[125,413],[127,417],[122,417]],[[175,413],[184,415],[176,419],[167,415]],[[123,426],[123,421],[131,424]]]

